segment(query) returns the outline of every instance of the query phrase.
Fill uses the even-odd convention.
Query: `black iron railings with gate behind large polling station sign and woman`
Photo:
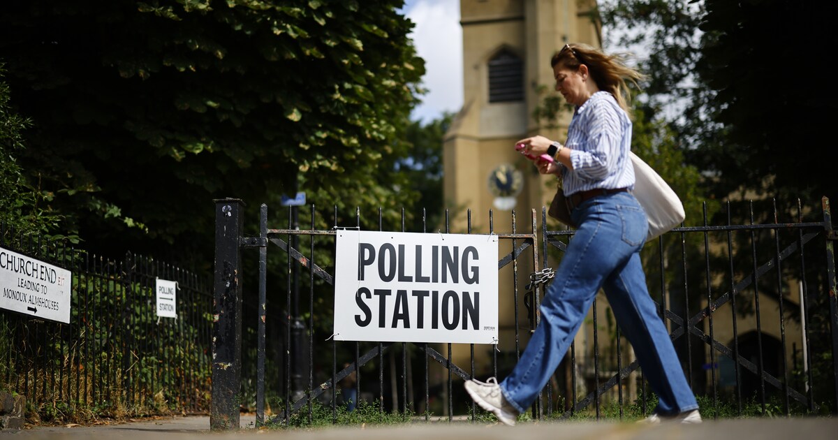
[[[227,334],[236,326],[245,330],[237,341],[215,334],[217,344],[243,347],[238,360],[241,378],[221,365],[214,371],[224,377],[228,395],[239,389],[236,380],[241,379],[241,401],[252,405],[259,425],[287,423],[301,412],[308,412],[310,419],[315,404],[330,406],[336,417],[344,406],[340,389],[350,375],[356,376],[350,385],[353,394],[377,404],[382,412],[426,419],[473,417],[480,410],[462,391],[463,380],[490,375],[502,379],[515,364],[529,337],[530,322],[539,321],[544,288],[531,274],[556,267],[574,234],[548,227],[546,210],[541,215],[531,212],[523,233],[516,232],[512,212],[512,232],[498,233],[489,213],[489,230],[483,233],[499,236],[505,249],[498,268],[507,272],[508,283],[499,287],[499,296],[511,298],[502,313],[513,323],[502,328],[504,336],[497,345],[347,342],[331,338],[330,323],[335,228],[348,220],[339,219],[335,210],[331,220],[323,221],[312,205],[310,226],[300,229],[292,221],[297,208],[291,207],[287,228],[273,229],[262,205],[259,236],[246,237],[241,218],[235,220],[241,215],[241,200],[217,200],[216,207],[217,229],[225,230],[223,243],[232,246],[216,249],[216,304],[235,303],[220,300],[220,294],[231,295],[245,310],[226,313],[217,306],[220,319],[226,313],[241,322],[216,325],[228,329]],[[778,412],[768,411],[767,405],[779,406],[785,414],[838,413],[835,233],[827,199],[823,208],[822,221],[804,221],[798,214],[797,221],[779,222],[774,209],[768,213],[773,221],[757,224],[753,204],[747,204],[750,221],[734,225],[732,206],[727,204],[722,207],[728,213],[726,225],[710,225],[705,214],[703,225],[675,228],[645,246],[649,291],[693,390],[713,406],[710,414],[717,415],[723,405],[733,407],[734,413],[742,413],[744,405],[762,406],[764,414]],[[378,230],[380,219],[379,213]],[[334,228],[315,227],[323,223]],[[361,228],[360,213],[355,213],[351,227]],[[442,229],[450,230],[447,218]],[[464,229],[473,233],[470,211]],[[258,265],[245,264],[256,253]],[[230,264],[220,255],[238,255],[239,263]],[[230,287],[227,281],[234,278],[236,284]],[[629,405],[651,411],[654,396],[604,297],[595,301],[589,318],[554,380],[531,408],[533,417],[581,412],[602,417],[603,408],[614,406],[623,417]],[[214,400],[213,427],[237,426],[241,401]]]

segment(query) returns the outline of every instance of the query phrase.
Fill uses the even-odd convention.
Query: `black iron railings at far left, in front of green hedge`
[[[212,294],[204,277],[150,256],[122,260],[0,228],[0,248],[70,271],[69,323],[0,308],[0,391],[29,412],[208,412]],[[177,282],[158,318],[155,281]],[[42,411],[43,410],[43,411]]]

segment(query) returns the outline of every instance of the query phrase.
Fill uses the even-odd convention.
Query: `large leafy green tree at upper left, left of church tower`
[[[424,74],[401,3],[13,0],[0,58],[33,122],[20,164],[91,251],[206,261],[213,199],[256,219],[297,190],[395,222],[418,197],[394,164]]]

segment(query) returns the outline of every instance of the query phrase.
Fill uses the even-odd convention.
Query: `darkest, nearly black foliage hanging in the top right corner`
[[[838,43],[831,28],[838,3],[704,3],[706,38],[697,71],[716,91],[710,104],[725,131],[723,143],[699,146],[693,160],[720,176],[714,192],[752,189],[816,207],[822,196],[838,200],[834,163],[819,147],[838,102],[818,93],[816,85],[832,78],[815,65]],[[795,78],[795,69],[804,69],[803,78]]]

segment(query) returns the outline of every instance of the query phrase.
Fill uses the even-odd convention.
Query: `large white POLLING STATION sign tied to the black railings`
[[[334,339],[498,343],[498,236],[338,230]]]

